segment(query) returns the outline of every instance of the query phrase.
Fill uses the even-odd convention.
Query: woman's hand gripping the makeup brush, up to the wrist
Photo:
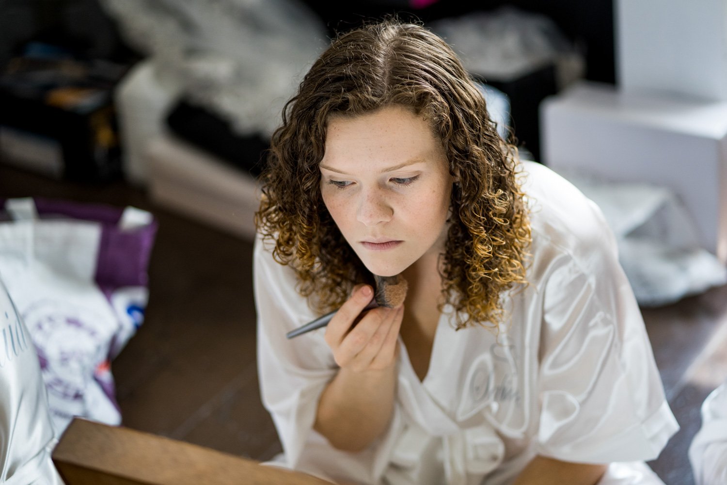
[[[326,327],[336,364],[353,372],[381,371],[396,361],[403,305],[374,308],[361,316],[373,294],[369,285],[356,286]]]

